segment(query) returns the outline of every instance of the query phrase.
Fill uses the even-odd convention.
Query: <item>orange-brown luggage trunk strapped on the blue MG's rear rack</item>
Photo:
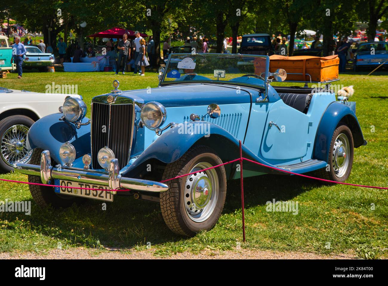
[[[279,55],[270,56],[269,70],[275,72],[282,68],[287,72],[287,81],[324,82],[338,78],[338,65],[340,59],[337,55],[327,57]],[[292,73],[298,73],[297,75]],[[310,76],[309,76],[310,75]]]

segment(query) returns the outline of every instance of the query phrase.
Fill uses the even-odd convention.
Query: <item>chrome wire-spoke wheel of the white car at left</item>
[[[10,166],[26,163],[31,159],[33,150],[27,150],[27,133],[29,128],[22,124],[9,127],[0,142],[2,159]]]

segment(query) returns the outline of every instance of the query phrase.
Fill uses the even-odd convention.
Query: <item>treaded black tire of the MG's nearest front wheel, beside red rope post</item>
[[[209,162],[212,166],[222,164],[222,160],[215,151],[207,146],[194,146],[180,159],[166,166],[163,180],[190,173],[199,162]],[[201,230],[210,230],[220,218],[226,198],[226,174],[223,166],[215,168],[218,175],[219,194],[218,201],[211,216],[201,222],[195,222],[189,218],[184,205],[184,187],[187,177],[167,181],[170,187],[160,194],[160,208],[163,219],[173,232],[184,236],[194,236]]]

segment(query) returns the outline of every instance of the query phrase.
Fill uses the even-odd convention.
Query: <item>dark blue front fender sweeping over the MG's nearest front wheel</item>
[[[160,137],[152,142],[147,149],[133,162],[130,167],[122,174],[131,173],[132,171],[136,173],[136,168],[141,166],[144,162],[147,162],[150,159],[157,159],[164,163],[171,163],[178,160],[182,155],[191,148],[191,146],[197,145],[206,145],[213,148],[218,156],[225,162],[240,157],[239,154],[239,140],[230,134],[225,129],[221,128],[218,125],[213,123],[196,121],[189,122],[190,124],[210,124],[210,136],[204,137],[204,134],[182,134],[178,131],[184,129],[185,123],[180,123],[177,126],[163,131]],[[198,130],[198,129],[197,129]],[[245,158],[255,160],[265,165],[273,166],[263,159],[257,157],[254,153],[251,152],[246,146],[242,145],[242,155]],[[261,167],[258,165],[252,165],[247,161],[244,161],[244,169],[250,166],[251,169],[254,169],[262,173],[270,174],[284,174],[280,171],[275,171],[267,167]],[[274,166],[275,167],[275,166]]]

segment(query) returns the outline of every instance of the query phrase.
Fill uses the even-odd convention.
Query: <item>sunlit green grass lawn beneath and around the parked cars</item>
[[[156,70],[145,77],[111,73],[26,72],[0,79],[0,86],[45,92],[45,85],[78,84],[78,93],[90,105],[93,96],[112,89],[120,80],[120,89],[156,87]],[[376,72],[341,74],[340,84],[354,85],[352,100],[357,101],[357,116],[368,141],[355,149],[348,183],[388,186],[388,74]],[[56,110],[53,110],[56,112]],[[88,111],[88,114],[89,111]],[[374,126],[374,132],[371,132]],[[26,181],[21,174],[0,178]],[[31,215],[0,213],[0,251],[36,251],[86,246],[123,251],[146,249],[150,242],[156,255],[182,251],[197,253],[242,248],[314,253],[353,253],[361,258],[388,258],[388,193],[386,190],[345,185],[321,185],[296,176],[266,175],[244,179],[246,238],[242,243],[239,180],[228,181],[225,208],[217,225],[193,238],[174,235],[163,222],[159,206],[133,197],[115,197],[107,210],[101,202],[89,200],[83,206],[54,211],[40,209],[32,201],[27,185],[0,182],[0,201],[32,201]],[[298,215],[267,212],[266,202],[297,201]],[[371,209],[374,204],[374,210]],[[148,243],[149,244],[149,243]],[[328,248],[328,246],[330,247]]]

